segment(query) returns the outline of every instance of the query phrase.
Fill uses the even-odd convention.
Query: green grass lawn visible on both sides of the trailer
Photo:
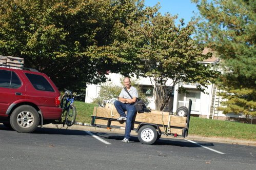
[[[97,105],[75,101],[75,106],[76,121],[91,123],[93,108]],[[190,117],[188,134],[256,141],[256,124]]]

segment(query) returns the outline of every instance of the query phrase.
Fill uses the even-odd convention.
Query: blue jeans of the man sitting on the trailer
[[[125,138],[129,140],[131,133],[131,121],[136,112],[134,104],[125,104],[119,100],[115,100],[114,106],[121,117],[125,116],[127,118],[125,125]],[[125,114],[125,111],[127,115]]]

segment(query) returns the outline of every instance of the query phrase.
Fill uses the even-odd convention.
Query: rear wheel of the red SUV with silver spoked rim
[[[40,121],[37,111],[30,105],[17,107],[10,116],[12,128],[21,133],[33,132]]]

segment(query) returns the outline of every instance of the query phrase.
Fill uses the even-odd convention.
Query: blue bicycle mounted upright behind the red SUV
[[[63,125],[66,123],[67,126],[72,126],[75,122],[76,118],[76,108],[74,105],[74,98],[80,95],[76,95],[76,93],[73,93],[67,89],[64,89],[65,93],[62,96],[61,99],[61,105],[62,108],[62,117],[65,116],[65,120],[62,122]]]

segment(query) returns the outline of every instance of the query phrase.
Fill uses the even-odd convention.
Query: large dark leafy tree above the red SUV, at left
[[[46,73],[59,88],[76,90],[120,71],[104,51],[122,38],[119,26],[136,19],[136,0],[6,0],[0,2],[0,54],[25,58],[25,66]],[[93,50],[92,50],[93,49]]]

